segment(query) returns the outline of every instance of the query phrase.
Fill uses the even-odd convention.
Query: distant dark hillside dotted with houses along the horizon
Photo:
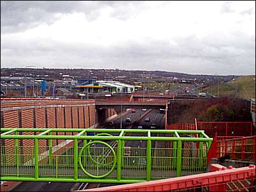
[[[155,80],[160,78],[183,78],[183,79],[212,79],[213,75],[205,74],[185,74],[181,72],[168,71],[140,71],[140,70],[120,70],[120,69],[29,69],[29,68],[1,68],[1,76],[50,76],[52,78],[60,79],[61,74],[68,74],[74,79],[97,78],[97,80],[104,80],[106,78],[112,80],[119,79],[134,79],[141,80]],[[218,76],[222,81],[229,81],[238,76]],[[116,78],[116,79],[114,79]]]

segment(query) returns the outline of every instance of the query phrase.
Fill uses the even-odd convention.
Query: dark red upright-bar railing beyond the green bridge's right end
[[[209,137],[215,132],[218,136],[252,136],[253,122],[197,122],[197,128],[204,130]]]

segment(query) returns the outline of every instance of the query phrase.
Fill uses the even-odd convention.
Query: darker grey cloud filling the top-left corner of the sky
[[[52,24],[55,13],[97,15],[97,3],[89,1],[1,1],[1,32],[18,32],[39,24]]]

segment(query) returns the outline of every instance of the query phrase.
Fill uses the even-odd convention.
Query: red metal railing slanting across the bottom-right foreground
[[[253,191],[255,188],[255,165],[226,168],[212,164],[211,171],[205,174],[81,191]]]

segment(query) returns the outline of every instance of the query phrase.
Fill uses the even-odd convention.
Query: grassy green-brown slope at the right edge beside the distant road
[[[204,92],[217,95],[217,85],[209,86]],[[243,99],[255,98],[255,76],[240,76],[227,83],[220,83],[219,96],[235,96]]]

